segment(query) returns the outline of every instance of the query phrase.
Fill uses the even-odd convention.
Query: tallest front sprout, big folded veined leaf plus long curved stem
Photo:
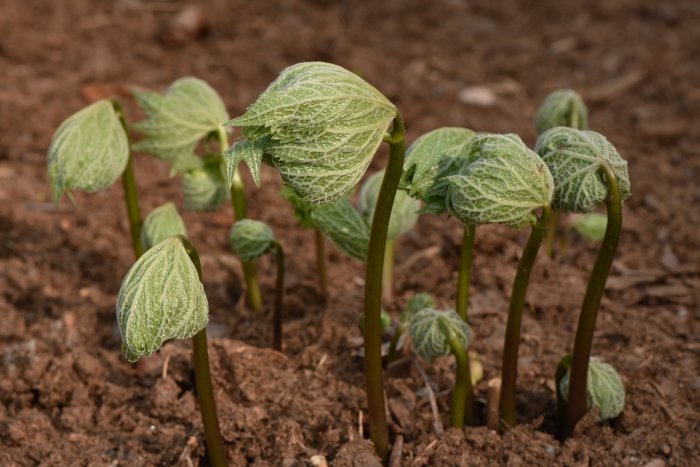
[[[253,173],[259,172],[264,155],[297,196],[315,205],[345,197],[362,178],[382,141],[389,144],[389,163],[367,249],[364,339],[370,437],[379,456],[386,458],[382,270],[391,207],[403,167],[403,118],[359,76],[337,65],[309,62],[282,71],[243,116],[228,124],[242,126],[244,138],[226,155],[229,171],[243,160]]]

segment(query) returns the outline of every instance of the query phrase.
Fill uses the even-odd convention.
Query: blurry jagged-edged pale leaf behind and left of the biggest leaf
[[[148,117],[134,125],[145,135],[134,150],[169,163],[173,174],[200,168],[197,144],[229,119],[214,88],[198,78],[180,78],[164,95],[134,92],[134,97]]]

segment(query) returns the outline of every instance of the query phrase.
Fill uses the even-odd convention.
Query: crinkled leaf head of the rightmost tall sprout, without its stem
[[[605,201],[608,188],[601,168],[606,162],[617,177],[622,199],[630,197],[627,162],[600,133],[552,128],[537,138],[535,151],[554,177],[552,204],[558,211],[588,212]]]

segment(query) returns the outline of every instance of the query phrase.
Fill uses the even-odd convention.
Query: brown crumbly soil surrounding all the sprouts
[[[697,465],[700,459],[700,7],[695,1],[202,2],[191,30],[168,1],[6,0],[0,15],[0,464],[206,464],[187,342],[140,365],[119,353],[114,305],[133,256],[122,191],[50,203],[53,130],[89,99],[196,75],[239,115],[285,66],[325,60],[361,73],[404,114],[409,141],[439,126],[517,132],[534,142],[541,99],[573,87],[592,128],[630,164],[633,197],[603,300],[594,353],[627,388],[624,414],[590,415],[561,444],[553,373],[571,350],[595,245],[541,254],[520,350],[519,418],[436,434],[424,382],[405,359],[387,373],[392,438],[403,465]],[[196,12],[195,12],[196,13]],[[182,20],[182,17],[181,17]],[[185,18],[186,20],[186,18]],[[187,21],[184,21],[187,23]],[[177,24],[182,24],[182,21]],[[201,26],[207,26],[202,28]],[[173,30],[175,28],[176,30]],[[495,100],[476,105],[465,88]],[[462,96],[460,98],[460,95]],[[466,96],[469,97],[469,96]],[[127,100],[132,120],[140,118]],[[382,166],[385,153],[374,168]],[[181,181],[137,158],[145,213],[182,205]],[[253,217],[288,251],[284,355],[267,349],[274,265],[259,271],[266,310],[245,309],[226,239],[230,208],[185,214],[211,306],[210,356],[232,465],[376,465],[357,356],[361,264],[329,247],[331,299],[315,287],[313,237],[278,197],[271,169],[250,179]],[[413,292],[455,294],[461,228],[424,216],[399,242],[397,313]],[[505,310],[527,232],[479,229],[471,316],[486,384],[500,372]],[[163,366],[167,362],[167,374]],[[447,425],[450,359],[423,362]],[[360,424],[360,417],[363,423]]]

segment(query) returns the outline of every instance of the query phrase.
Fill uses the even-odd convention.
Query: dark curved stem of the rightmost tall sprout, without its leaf
[[[605,200],[605,206],[608,210],[608,225],[605,229],[605,237],[600,246],[591,277],[588,279],[588,287],[583,298],[578,328],[576,329],[566,414],[565,434],[567,436],[571,434],[576,423],[588,409],[586,404],[586,384],[595,322],[598,317],[603,292],[605,291],[605,282],[608,279],[608,273],[615,258],[617,244],[620,241],[620,233],[622,231],[622,197],[617,178],[607,162],[601,164],[601,169],[605,174],[608,185],[608,197]]]

